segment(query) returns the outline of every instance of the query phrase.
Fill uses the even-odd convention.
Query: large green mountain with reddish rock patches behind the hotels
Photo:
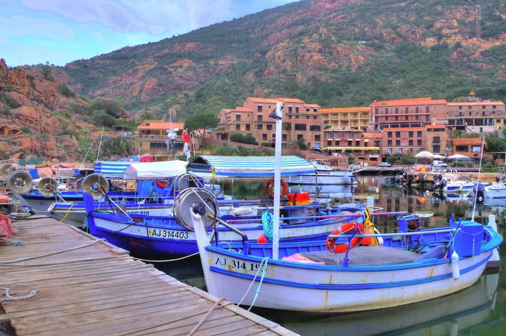
[[[481,38],[476,39],[476,5]],[[291,3],[54,69],[81,95],[175,120],[246,96],[322,107],[470,90],[506,100],[501,0],[315,0]]]

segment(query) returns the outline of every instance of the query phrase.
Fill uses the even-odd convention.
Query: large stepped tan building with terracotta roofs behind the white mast
[[[218,115],[220,139],[229,140],[234,133],[250,134],[258,144],[274,146],[275,119],[269,117],[276,103],[284,105],[281,145],[286,148],[293,141],[304,138],[309,148],[320,148],[322,142],[322,121],[320,106],[307,104],[296,98],[247,97],[242,106],[222,109]]]

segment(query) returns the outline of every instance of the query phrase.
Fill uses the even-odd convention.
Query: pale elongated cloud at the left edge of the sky
[[[71,27],[47,19],[32,19],[24,16],[0,17],[3,34],[0,40],[8,40],[11,36],[41,36],[57,40],[68,40],[74,37]]]

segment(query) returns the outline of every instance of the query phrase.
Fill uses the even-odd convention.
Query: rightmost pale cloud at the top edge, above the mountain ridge
[[[230,20],[234,16],[230,0],[187,0],[186,7],[191,29]]]

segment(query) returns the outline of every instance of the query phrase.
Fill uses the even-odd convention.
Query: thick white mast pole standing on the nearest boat
[[[279,257],[279,198],[281,194],[281,132],[283,121],[283,104],[276,103],[276,142],[275,142],[275,165],[274,165],[274,210],[272,221],[272,258]]]

